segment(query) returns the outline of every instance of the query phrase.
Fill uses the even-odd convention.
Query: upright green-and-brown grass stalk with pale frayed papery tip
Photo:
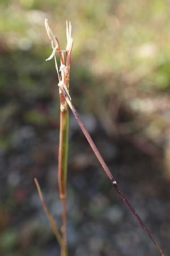
[[[71,64],[71,51],[73,49],[73,38],[71,38],[71,22],[66,20],[66,38],[67,46],[65,50],[61,50],[59,40],[54,36],[48,25],[48,19],[45,19],[45,28],[52,44],[52,53],[46,61],[53,59],[56,65],[58,81],[66,85],[69,91],[69,76]],[[56,52],[58,52],[61,65],[58,69]],[[59,127],[59,152],[58,152],[58,186],[59,197],[62,203],[62,246],[61,256],[67,256],[67,236],[66,236],[66,184],[67,184],[67,158],[68,158],[68,135],[69,135],[69,111],[65,97],[59,90],[60,99],[60,127]]]

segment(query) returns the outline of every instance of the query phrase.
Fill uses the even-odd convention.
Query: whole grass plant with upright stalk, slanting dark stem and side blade
[[[154,243],[156,248],[158,249],[160,255],[164,256],[162,249],[158,245],[158,243],[153,238],[151,232],[146,228],[145,224],[139,217],[139,214],[136,212],[134,207],[131,205],[130,201],[121,190],[117,181],[114,179],[111,171],[109,170],[107,164],[104,162],[103,157],[100,155],[99,150],[97,149],[94,141],[92,140],[90,134],[88,133],[86,127],[84,126],[78,112],[76,111],[73,102],[71,100],[69,94],[69,77],[70,77],[70,64],[71,64],[71,51],[73,48],[73,39],[71,38],[71,23],[66,22],[66,37],[67,37],[67,46],[66,49],[63,51],[60,48],[59,41],[56,36],[53,35],[52,30],[48,25],[48,20],[45,19],[45,27],[46,32],[51,40],[52,44],[52,54],[46,59],[46,61],[51,60],[54,58],[56,71],[58,75],[58,87],[59,87],[59,99],[60,99],[60,129],[59,129],[59,153],[58,153],[58,186],[59,186],[59,197],[62,203],[62,227],[61,227],[61,234],[57,228],[56,222],[54,221],[52,215],[48,207],[45,204],[44,198],[42,196],[42,192],[39,186],[38,181],[35,179],[36,187],[39,192],[40,200],[46,215],[48,216],[50,225],[56,236],[59,245],[61,246],[61,256],[67,256],[67,237],[66,237],[66,183],[67,183],[67,152],[68,152],[68,133],[69,133],[69,110],[68,106],[70,107],[76,121],[78,122],[80,129],[82,130],[84,136],[86,137],[88,143],[90,144],[92,151],[96,155],[96,158],[99,160],[105,174],[107,174],[109,180],[116,191],[121,196],[122,200],[126,204],[126,206],[130,209],[133,216],[137,219],[139,225],[145,230],[148,237],[150,237],[151,241]],[[56,53],[59,54],[60,57],[60,67],[58,69]]]

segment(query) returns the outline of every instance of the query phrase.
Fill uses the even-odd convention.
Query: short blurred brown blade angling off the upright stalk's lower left
[[[54,221],[54,218],[53,218],[52,214],[50,213],[49,208],[45,204],[44,197],[42,196],[42,192],[41,192],[39,182],[37,181],[36,178],[34,180],[35,180],[35,184],[36,184],[36,187],[37,187],[37,191],[39,193],[39,197],[40,197],[40,200],[41,200],[42,207],[44,208],[46,216],[48,217],[48,220],[50,222],[50,226],[53,230],[53,233],[54,233],[59,245],[61,246],[62,239],[61,239],[61,235],[59,234],[59,230],[57,228],[56,221]]]

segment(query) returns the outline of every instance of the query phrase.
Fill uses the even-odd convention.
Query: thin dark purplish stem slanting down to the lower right
[[[109,177],[109,179],[111,180],[114,188],[116,189],[116,191],[119,193],[119,195],[121,196],[122,200],[124,200],[124,203],[127,205],[127,207],[130,209],[131,213],[134,215],[134,217],[137,219],[139,225],[141,225],[141,227],[145,230],[145,232],[147,233],[148,237],[150,237],[151,241],[155,244],[155,246],[157,247],[157,249],[159,250],[160,254],[162,256],[164,256],[162,249],[160,248],[160,246],[158,245],[158,243],[155,241],[155,239],[152,237],[150,231],[146,228],[145,224],[143,223],[143,221],[141,220],[141,217],[139,217],[138,213],[135,211],[134,207],[131,205],[130,201],[128,200],[128,198],[125,196],[124,192],[122,192],[121,188],[117,185],[117,181],[114,179],[113,175],[111,174],[111,171],[109,170],[107,164],[104,162],[103,157],[100,155],[99,150],[97,149],[94,141],[92,140],[90,134],[88,133],[88,131],[86,130],[86,128],[83,125],[82,120],[79,117],[78,112],[76,111],[74,105],[72,104],[71,100],[70,100],[70,96],[69,94],[66,92],[64,86],[62,84],[58,85],[59,88],[62,91],[63,96],[66,98],[66,101],[71,109],[71,111],[73,112],[73,115],[76,119],[76,121],[78,122],[80,129],[82,129],[84,136],[86,137],[88,143],[90,144],[92,150],[94,151],[97,159],[99,160],[101,166],[103,167],[105,173],[107,174],[107,176]]]

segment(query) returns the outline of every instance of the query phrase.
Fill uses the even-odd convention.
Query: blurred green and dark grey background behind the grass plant
[[[168,0],[1,0],[0,251],[53,256],[33,178],[58,225],[59,99],[44,18],[66,47],[70,94],[106,162],[170,254],[170,5]],[[71,255],[159,255],[116,195],[70,113]]]

